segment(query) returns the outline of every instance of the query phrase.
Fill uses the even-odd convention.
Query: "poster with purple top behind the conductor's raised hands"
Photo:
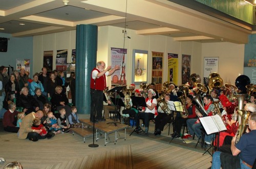
[[[120,66],[111,75],[111,85],[126,85],[125,66],[126,66],[127,49],[111,47],[111,66]]]

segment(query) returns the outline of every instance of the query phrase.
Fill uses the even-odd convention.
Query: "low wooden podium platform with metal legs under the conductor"
[[[90,127],[93,127],[93,123],[91,123],[89,119],[83,119],[83,120],[79,120],[79,121],[84,125],[88,125]],[[110,141],[109,137],[108,137],[109,142],[106,142],[107,136],[111,133],[115,133],[114,144],[116,144],[117,139],[124,138],[124,140],[126,140],[126,128],[129,128],[130,126],[125,125],[125,124],[120,124],[120,123],[117,123],[117,125],[115,125],[114,123],[111,123],[111,122],[113,122],[113,120],[107,119],[106,121],[95,123],[96,142],[99,138],[102,138],[102,137],[97,137],[98,132],[103,132],[104,133],[103,138],[105,140],[105,146],[106,146],[107,143],[113,143],[113,142]],[[124,137],[118,137],[117,138],[117,134],[119,134],[118,131],[120,131],[120,130],[124,130]],[[120,136],[120,134],[119,134],[119,136]]]

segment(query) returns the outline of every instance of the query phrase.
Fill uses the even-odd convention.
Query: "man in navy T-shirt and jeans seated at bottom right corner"
[[[243,134],[237,144],[238,138],[234,136],[231,140],[231,152],[223,153],[216,151],[212,156],[211,168],[252,168],[256,159],[256,113],[252,112],[248,117],[248,133]]]

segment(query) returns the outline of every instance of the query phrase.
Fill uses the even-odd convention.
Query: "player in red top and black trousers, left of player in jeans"
[[[196,107],[192,103],[192,101],[193,101],[193,96],[188,95],[186,98],[186,105],[185,105],[188,113],[187,116],[184,116],[183,112],[177,112],[177,115],[174,120],[174,133],[172,134],[172,137],[179,138],[181,133],[181,127],[184,123],[186,123],[187,119],[195,119],[197,117]]]

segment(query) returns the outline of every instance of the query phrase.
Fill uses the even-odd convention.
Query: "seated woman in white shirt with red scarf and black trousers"
[[[155,115],[157,116],[157,99],[155,99],[154,96],[156,96],[156,93],[152,89],[147,91],[146,108],[143,107],[145,108],[145,111],[139,114],[139,119],[143,119],[145,125],[144,132],[146,134],[148,133],[148,126],[150,125],[150,120],[154,119]]]

